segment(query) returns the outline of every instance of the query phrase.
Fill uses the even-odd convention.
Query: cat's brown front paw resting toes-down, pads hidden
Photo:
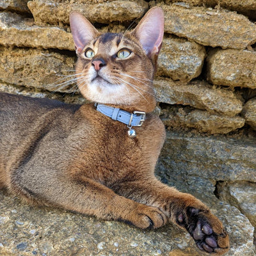
[[[159,228],[166,224],[167,217],[157,207],[139,204],[131,211],[129,223],[139,228]]]

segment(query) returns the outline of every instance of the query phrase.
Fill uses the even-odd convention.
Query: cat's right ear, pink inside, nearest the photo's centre
[[[164,35],[164,12],[160,7],[151,8],[131,32],[140,41],[148,56],[158,54]]]

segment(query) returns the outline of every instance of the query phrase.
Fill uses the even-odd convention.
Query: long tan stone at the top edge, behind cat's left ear
[[[76,3],[76,1],[33,0],[28,2],[36,24],[68,24],[71,10],[77,10],[92,22],[109,23],[141,17],[148,4],[144,1],[108,1],[106,3]]]

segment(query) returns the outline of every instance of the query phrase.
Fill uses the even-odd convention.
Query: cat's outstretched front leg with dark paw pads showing
[[[186,229],[204,252],[222,255],[229,250],[228,234],[221,221],[200,200],[154,178],[116,184],[116,193],[158,207],[168,220]]]

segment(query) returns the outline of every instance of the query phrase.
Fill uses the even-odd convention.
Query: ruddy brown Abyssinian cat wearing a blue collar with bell
[[[152,79],[163,10],[150,9],[124,35],[100,33],[70,13],[77,84],[92,104],[0,93],[0,184],[33,204],[54,205],[140,228],[172,221],[198,248],[222,255],[229,239],[194,196],[154,177],[164,143]]]

